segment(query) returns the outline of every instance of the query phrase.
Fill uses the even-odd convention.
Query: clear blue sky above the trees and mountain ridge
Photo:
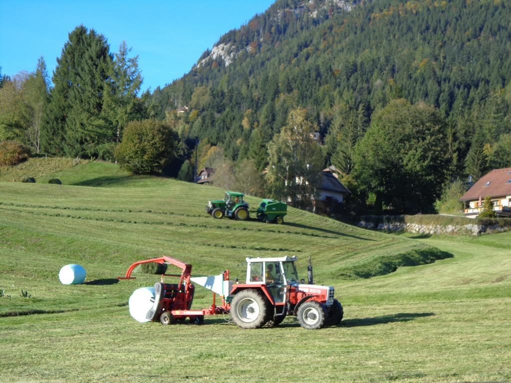
[[[103,34],[110,51],[126,40],[138,55],[142,89],[188,73],[221,35],[239,28],[274,0],[0,0],[0,66],[13,76],[44,57],[50,77],[67,35],[83,24]]]

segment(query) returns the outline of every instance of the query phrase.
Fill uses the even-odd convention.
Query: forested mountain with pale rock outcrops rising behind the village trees
[[[305,108],[325,164],[350,173],[373,113],[403,98],[442,115],[446,179],[477,178],[511,165],[502,149],[511,143],[510,53],[507,1],[278,0],[157,88],[149,112],[173,118],[186,105],[181,136],[262,165],[289,112]]]

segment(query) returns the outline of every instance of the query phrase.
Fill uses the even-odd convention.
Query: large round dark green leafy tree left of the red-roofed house
[[[448,163],[445,122],[433,107],[393,100],[373,116],[357,143],[353,176],[382,204],[400,212],[432,210]]]

